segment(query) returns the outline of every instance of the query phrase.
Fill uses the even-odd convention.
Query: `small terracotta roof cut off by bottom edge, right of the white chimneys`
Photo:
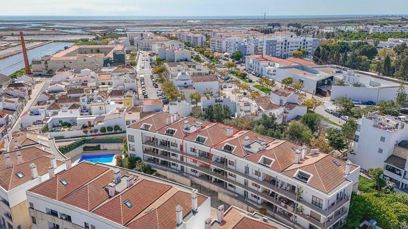
[[[243,212],[232,207],[224,214],[224,221],[218,224],[215,229],[247,229],[247,228],[257,228],[257,229],[277,229],[277,227],[272,226],[261,219],[249,217]]]

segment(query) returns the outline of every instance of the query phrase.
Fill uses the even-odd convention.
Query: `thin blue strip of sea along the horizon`
[[[404,14],[333,14],[333,15],[266,15],[266,19],[308,19],[347,17],[404,17]],[[133,21],[133,20],[240,20],[264,19],[263,15],[231,16],[63,16],[63,15],[0,15],[0,21]]]

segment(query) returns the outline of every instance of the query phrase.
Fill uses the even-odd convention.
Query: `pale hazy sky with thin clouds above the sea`
[[[2,0],[0,15],[213,16],[408,14],[408,0]]]

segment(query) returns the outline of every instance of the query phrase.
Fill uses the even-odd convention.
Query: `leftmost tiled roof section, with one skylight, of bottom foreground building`
[[[109,169],[85,161],[72,168],[41,183],[30,191],[60,201],[74,190],[77,190]],[[64,186],[60,182],[62,179],[68,181],[68,184]]]

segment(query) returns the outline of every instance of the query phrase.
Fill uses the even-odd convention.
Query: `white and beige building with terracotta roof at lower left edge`
[[[22,149],[20,142],[14,139],[15,149],[0,155],[3,161],[0,165],[0,226],[7,229],[30,228],[25,191],[69,167],[70,159],[57,159],[48,152],[49,149],[46,151],[38,145]]]

